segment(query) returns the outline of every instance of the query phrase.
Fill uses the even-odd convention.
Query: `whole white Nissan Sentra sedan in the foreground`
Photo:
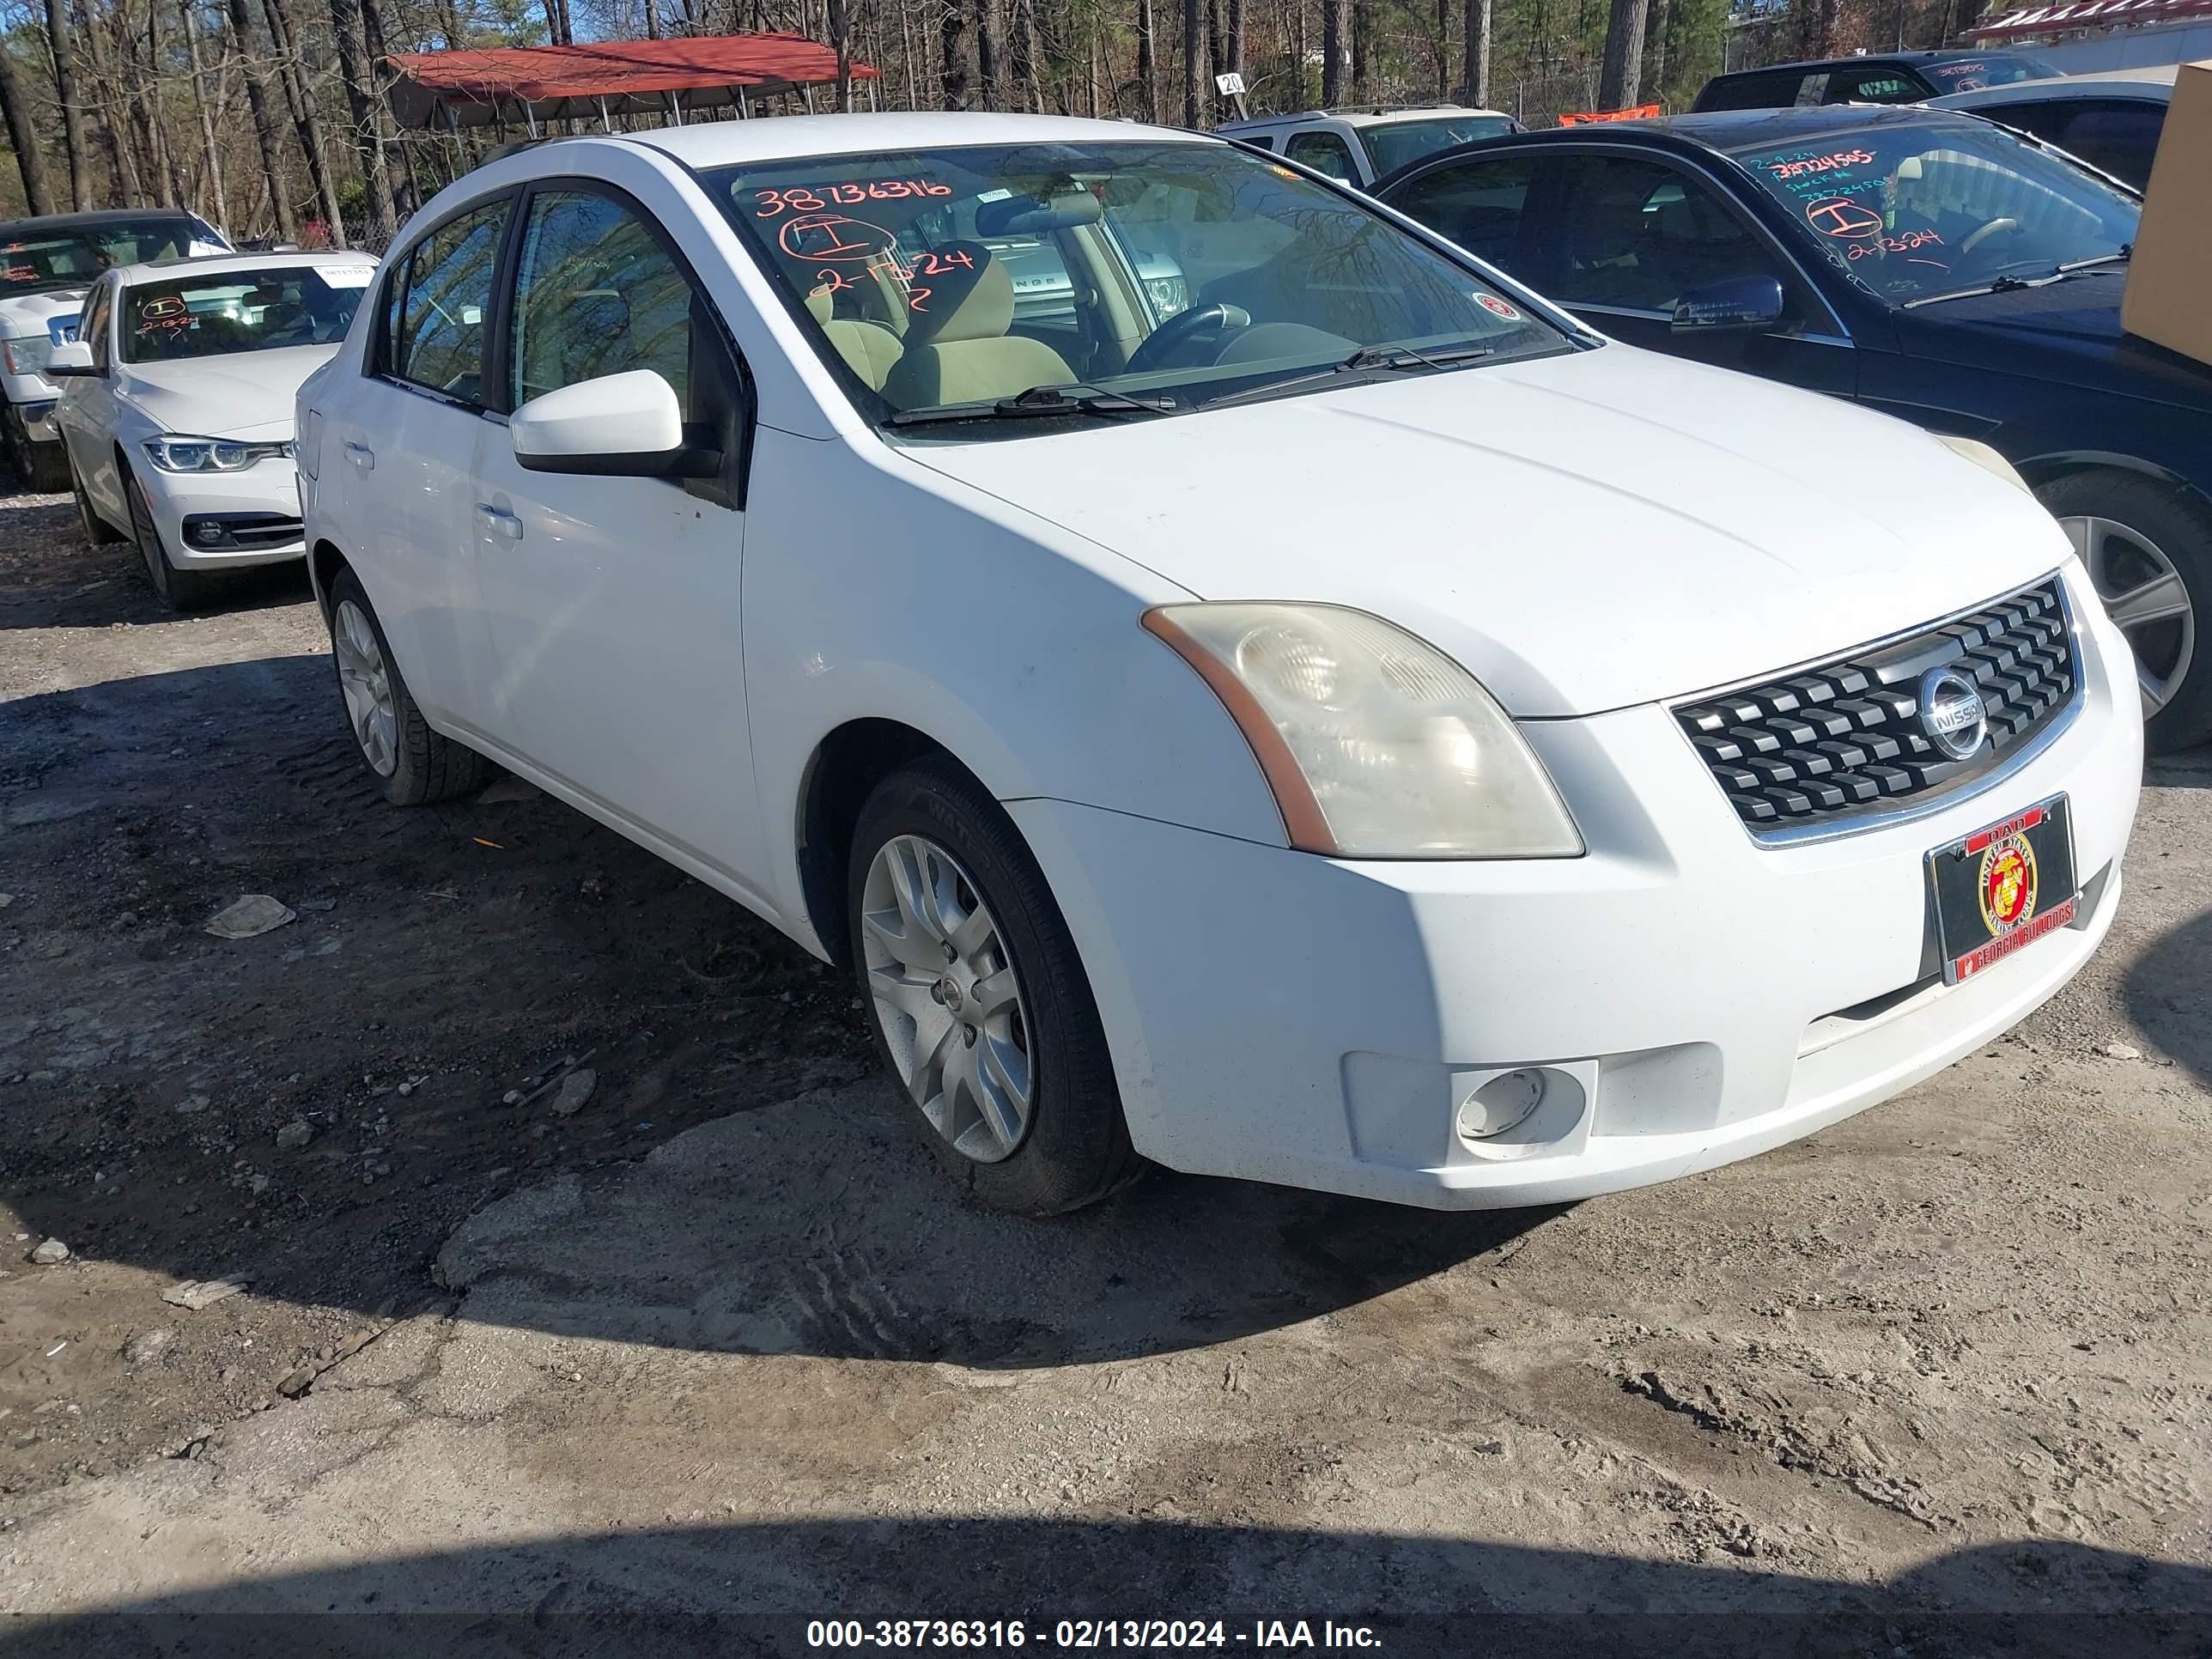
[[[489,757],[849,964],[1009,1210],[1710,1168],[1989,1042],[2119,902],[2128,648],[1997,456],[1188,133],[500,159],[301,471],[385,794]]]

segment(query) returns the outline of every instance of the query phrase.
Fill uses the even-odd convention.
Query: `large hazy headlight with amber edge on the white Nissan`
[[[1582,856],[1506,712],[1402,628],[1329,604],[1170,604],[1144,626],[1221,697],[1290,845],[1336,858]]]

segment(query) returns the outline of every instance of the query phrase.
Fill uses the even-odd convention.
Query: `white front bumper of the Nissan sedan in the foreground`
[[[1433,1208],[1553,1203],[1763,1152],[1975,1051],[2073,978],[2119,902],[2141,717],[2126,644],[2073,593],[2084,695],[2048,748],[1834,841],[1754,843],[1657,706],[1526,728],[1590,845],[1573,860],[1340,863],[1011,803],[1137,1150]],[[1924,854],[2062,792],[2079,916],[1944,987]],[[1537,1115],[1462,1141],[1460,1097],[1517,1068],[1551,1079]]]

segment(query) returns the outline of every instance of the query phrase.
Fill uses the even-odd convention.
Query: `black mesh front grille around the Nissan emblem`
[[[1955,668],[1982,692],[1989,741],[1949,759],[1920,723],[1920,677]],[[1752,830],[1843,821],[1951,790],[2068,708],[2079,686],[2057,577],[1907,639],[1674,710]]]

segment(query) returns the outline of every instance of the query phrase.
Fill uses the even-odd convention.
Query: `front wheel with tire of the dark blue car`
[[[2157,754],[2212,737],[2212,513],[2181,491],[2112,469],[2037,491],[2135,653],[2143,743]]]

